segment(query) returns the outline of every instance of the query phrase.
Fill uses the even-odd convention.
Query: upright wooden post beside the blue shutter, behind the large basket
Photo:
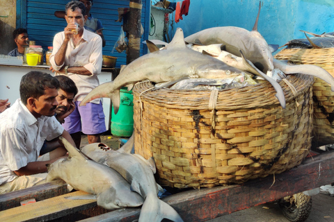
[[[129,46],[127,64],[140,56],[141,50],[141,0],[130,0],[129,3]]]

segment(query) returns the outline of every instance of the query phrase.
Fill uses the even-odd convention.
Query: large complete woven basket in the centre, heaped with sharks
[[[292,75],[280,85],[283,109],[269,83],[225,91],[159,89],[134,93],[135,151],[154,157],[159,183],[214,187],[280,173],[310,150],[313,78]],[[211,101],[211,102],[209,102]]]

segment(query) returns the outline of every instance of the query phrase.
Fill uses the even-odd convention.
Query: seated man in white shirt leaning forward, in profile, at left
[[[31,71],[19,85],[21,99],[0,114],[0,194],[32,187],[47,176],[46,164],[65,157],[59,144],[38,161],[42,145],[59,136],[74,141],[54,117],[59,82],[50,74]]]

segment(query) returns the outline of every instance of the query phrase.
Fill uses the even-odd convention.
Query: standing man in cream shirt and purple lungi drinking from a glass
[[[86,95],[100,82],[97,75],[102,68],[102,39],[100,35],[86,31],[86,8],[80,1],[70,1],[65,6],[67,26],[54,37],[54,50],[50,56],[50,70],[56,76],[65,75],[77,85],[74,97],[76,108],[65,119],[63,126],[77,144],[81,142],[81,131],[88,135],[88,142],[101,142],[100,134],[106,131],[101,99],[95,99],[86,106],[79,107]],[[79,24],[78,33],[72,30]]]

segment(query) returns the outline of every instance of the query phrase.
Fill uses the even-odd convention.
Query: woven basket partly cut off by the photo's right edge
[[[275,57],[294,64],[317,65],[334,76],[334,49],[284,49]],[[324,80],[315,78],[313,84],[312,146],[334,144],[334,92]]]

